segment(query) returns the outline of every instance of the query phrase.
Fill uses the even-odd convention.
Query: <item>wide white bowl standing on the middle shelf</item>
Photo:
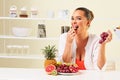
[[[25,27],[13,27],[12,33],[14,36],[18,37],[27,37],[31,35],[31,28],[25,28]]]

